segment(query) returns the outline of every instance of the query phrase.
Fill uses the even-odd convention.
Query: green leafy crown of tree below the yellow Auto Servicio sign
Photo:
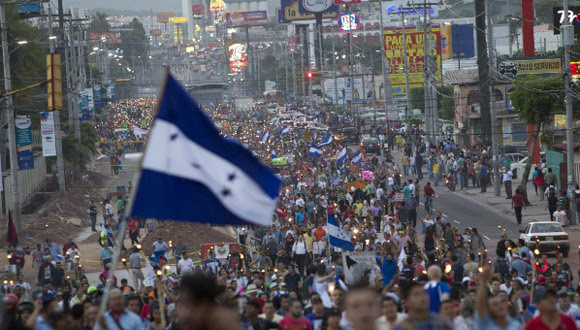
[[[518,79],[510,99],[520,118],[529,125],[542,125],[552,121],[556,111],[564,110],[564,86],[561,76],[538,78],[528,76]]]

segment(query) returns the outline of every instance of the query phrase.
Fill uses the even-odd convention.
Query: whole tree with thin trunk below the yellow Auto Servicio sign
[[[535,127],[535,130],[528,136],[528,140],[531,140],[528,148],[528,162],[519,186],[520,192],[524,195],[524,202],[530,205],[526,186],[532,168],[534,146],[540,138],[542,128],[552,121],[553,113],[564,110],[562,77],[546,79],[528,76],[525,79],[518,79],[516,89],[510,94],[510,100],[524,123]]]

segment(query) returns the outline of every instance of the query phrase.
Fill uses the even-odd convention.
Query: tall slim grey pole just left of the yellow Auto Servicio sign
[[[490,13],[490,2],[491,0],[485,0],[485,11]],[[493,191],[496,196],[501,195],[501,187],[500,187],[500,173],[499,173],[499,164],[498,164],[498,153],[499,153],[499,146],[498,146],[498,123],[497,123],[497,113],[495,110],[495,79],[496,75],[496,65],[495,65],[495,43],[493,40],[493,25],[491,21],[491,14],[487,15],[487,41],[489,43],[489,68],[490,68],[490,79],[489,79],[489,89],[490,89],[490,97],[489,97],[489,113],[491,117],[491,150],[493,153],[493,173],[494,173],[494,181],[493,181]],[[459,49],[459,47],[457,48]]]

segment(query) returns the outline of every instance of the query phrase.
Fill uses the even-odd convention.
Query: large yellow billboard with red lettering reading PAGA
[[[441,79],[441,48],[440,48],[440,28],[433,26],[431,50],[435,56],[433,65],[435,69],[435,79]],[[407,46],[407,64],[409,66],[409,84],[411,88],[420,87],[424,81],[424,49],[423,30],[414,27],[405,29],[405,44]],[[389,61],[391,85],[393,95],[403,95],[405,89],[405,70],[403,52],[403,30],[402,28],[388,28],[383,31],[383,47],[385,48],[386,59]]]

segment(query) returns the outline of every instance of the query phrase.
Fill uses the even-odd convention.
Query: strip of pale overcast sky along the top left
[[[64,7],[181,11],[181,0],[64,0]]]

